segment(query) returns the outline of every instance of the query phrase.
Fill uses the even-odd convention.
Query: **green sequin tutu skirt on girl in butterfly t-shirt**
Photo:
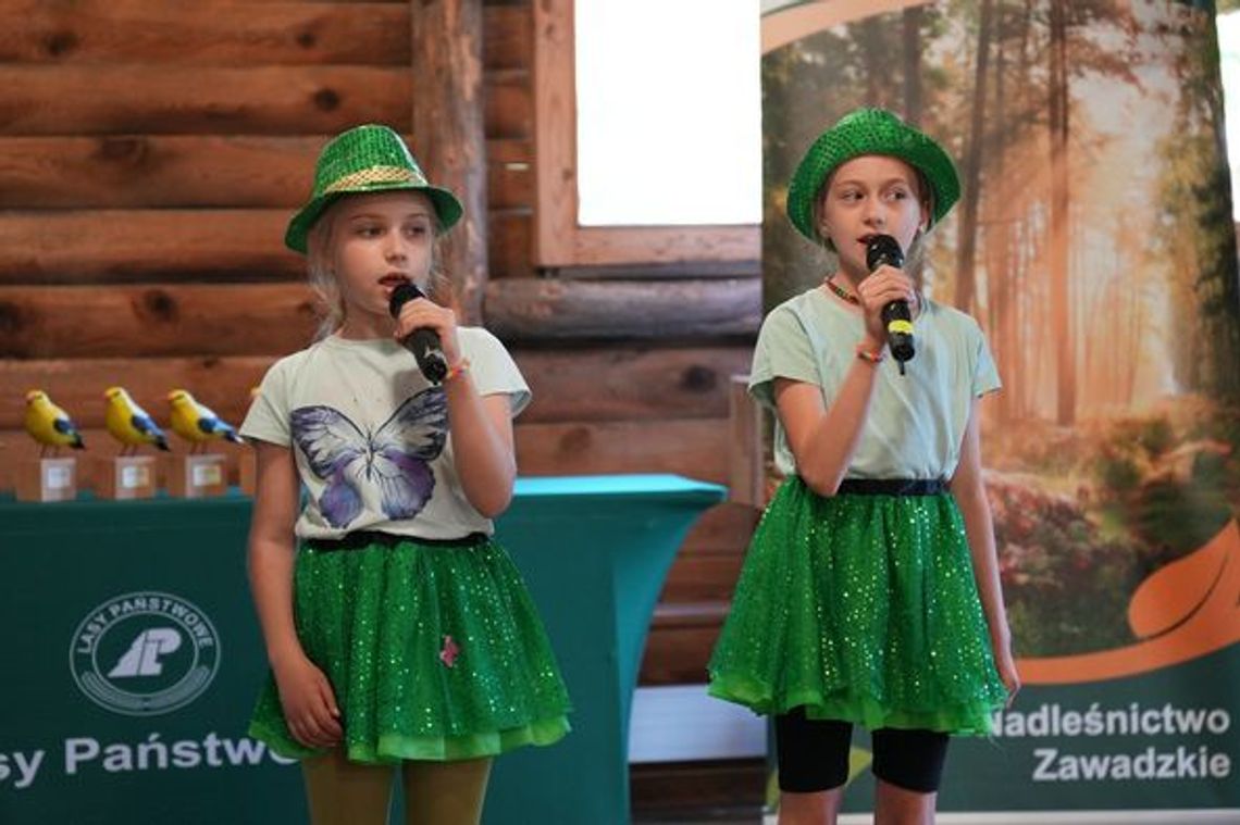
[[[335,691],[348,759],[471,759],[551,744],[569,730],[542,621],[492,540],[303,545],[294,614]],[[285,757],[321,753],[293,738],[270,676],[249,735]]]

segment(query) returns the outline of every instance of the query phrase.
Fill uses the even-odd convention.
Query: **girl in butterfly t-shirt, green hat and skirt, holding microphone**
[[[396,133],[365,125],[324,149],[285,234],[327,315],[242,426],[272,668],[249,732],[303,759],[316,825],[384,823],[394,764],[408,821],[477,823],[491,758],[569,730],[546,632],[492,539],[529,390],[503,344],[445,306],[389,313],[402,284],[444,294],[435,242],[460,217]],[[439,336],[441,384],[401,343],[419,328]]]

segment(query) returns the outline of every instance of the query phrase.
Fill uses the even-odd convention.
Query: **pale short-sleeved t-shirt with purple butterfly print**
[[[503,344],[459,327],[481,395],[503,394],[513,417],[529,388]],[[461,488],[448,432],[448,399],[404,347],[329,336],[268,370],[241,432],[291,446],[308,493],[301,539],[382,530],[425,539],[490,535],[495,526]]]

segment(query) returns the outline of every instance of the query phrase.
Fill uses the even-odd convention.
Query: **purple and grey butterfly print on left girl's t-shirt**
[[[379,494],[391,519],[422,512],[435,489],[427,463],[448,439],[448,399],[439,388],[418,393],[402,404],[374,434],[362,430],[340,410],[303,406],[293,410],[293,439],[310,469],[326,482],[319,510],[336,528],[362,512],[362,489]]]

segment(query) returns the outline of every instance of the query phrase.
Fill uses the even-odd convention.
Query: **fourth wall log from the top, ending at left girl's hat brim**
[[[300,279],[288,209],[0,213],[0,284]],[[208,344],[203,352],[211,352]]]

